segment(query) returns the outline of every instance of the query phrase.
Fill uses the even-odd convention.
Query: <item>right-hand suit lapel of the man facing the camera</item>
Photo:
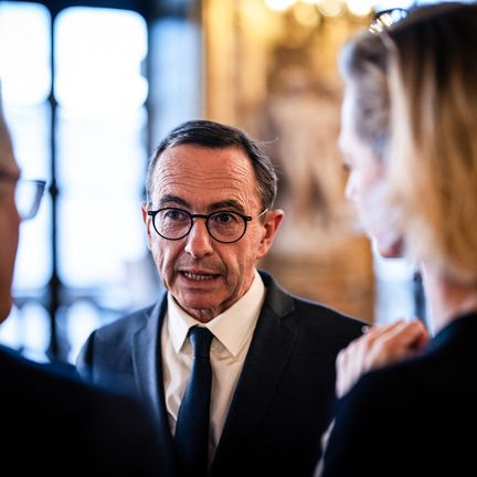
[[[246,455],[253,436],[290,357],[296,333],[282,326],[280,318],[294,309],[293,298],[262,274],[268,288],[239,384],[219,443],[212,475],[225,475],[233,459]],[[224,467],[225,466],[225,467]]]

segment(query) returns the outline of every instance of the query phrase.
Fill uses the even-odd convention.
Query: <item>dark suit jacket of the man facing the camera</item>
[[[219,443],[212,476],[309,476],[335,395],[338,351],[362,322],[293,297],[262,273],[267,294]],[[140,395],[161,430],[173,475],[160,329],[167,300],[95,331],[77,360],[93,382]]]

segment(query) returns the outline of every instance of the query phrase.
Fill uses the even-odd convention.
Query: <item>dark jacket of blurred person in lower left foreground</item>
[[[139,404],[53,368],[0,347],[3,470],[20,476],[158,475],[156,434]]]

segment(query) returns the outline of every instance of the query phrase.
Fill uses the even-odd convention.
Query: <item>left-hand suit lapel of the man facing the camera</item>
[[[166,409],[160,336],[167,308],[166,294],[146,316],[146,326],[134,337],[132,363],[141,401],[156,420],[159,434],[161,475],[174,473],[174,448]]]

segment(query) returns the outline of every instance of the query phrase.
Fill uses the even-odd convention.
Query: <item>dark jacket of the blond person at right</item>
[[[477,315],[340,400],[325,477],[477,475]]]

